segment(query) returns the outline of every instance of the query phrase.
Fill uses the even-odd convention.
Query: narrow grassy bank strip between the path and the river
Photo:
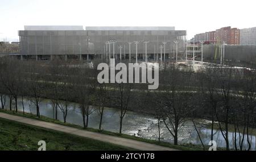
[[[31,118],[31,119],[36,119],[39,121],[45,121],[45,122],[51,122],[51,123],[56,123],[56,124],[61,124],[63,126],[69,126],[69,127],[74,127],[74,128],[79,128],[80,130],[86,130],[86,131],[92,131],[92,132],[98,132],[101,134],[105,134],[105,135],[111,135],[111,136],[118,136],[121,138],[127,138],[127,139],[133,139],[133,140],[138,140],[140,142],[146,142],[146,143],[151,143],[151,144],[157,144],[159,146],[164,146],[164,147],[169,147],[169,148],[174,148],[174,149],[179,149],[179,150],[189,150],[189,151],[199,151],[199,150],[203,150],[203,147],[201,146],[197,146],[194,144],[186,144],[186,145],[179,145],[179,146],[175,146],[174,144],[171,143],[167,143],[167,142],[158,142],[157,140],[150,140],[150,139],[143,139],[143,138],[139,138],[137,136],[130,136],[130,135],[119,135],[118,133],[115,132],[110,132],[110,131],[102,131],[102,130],[97,130],[94,128],[82,128],[81,126],[77,126],[75,124],[70,124],[70,123],[63,123],[61,121],[58,120],[53,120],[51,118],[47,118],[44,116],[41,116],[40,118],[37,118],[36,115],[34,114],[30,114],[30,113],[24,113],[21,111],[18,111],[18,113],[15,113],[14,111],[9,111],[9,110],[0,110],[1,113],[7,113],[7,114],[12,114],[12,115],[18,115],[20,117],[26,117],[26,118]]]

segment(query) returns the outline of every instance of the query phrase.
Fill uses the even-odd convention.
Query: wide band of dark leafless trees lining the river
[[[30,97],[40,118],[40,102],[42,98],[49,98],[55,110],[55,119],[59,109],[64,122],[67,122],[69,102],[73,101],[79,103],[86,128],[89,115],[95,111],[91,105],[96,105],[101,117],[99,129],[105,107],[114,107],[119,109],[119,134],[122,134],[122,122],[128,110],[150,113],[158,119],[159,141],[160,122],[163,121],[174,138],[174,144],[178,144],[179,129],[187,121],[192,121],[200,138],[196,119],[205,118],[212,121],[209,140],[213,140],[217,123],[227,150],[230,149],[230,130],[234,130],[236,135],[236,150],[251,148],[250,128],[256,126],[254,70],[240,69],[236,72],[234,67],[207,67],[193,72],[189,67],[177,68],[166,63],[159,71],[159,88],[148,90],[146,84],[98,84],[97,64],[101,61],[94,60],[91,67],[71,60],[40,62],[2,57],[1,107],[17,112],[18,97],[22,98],[22,103],[24,96]],[[7,96],[9,107],[5,104]],[[15,103],[15,107],[11,103]],[[201,143],[204,147],[202,140]]]

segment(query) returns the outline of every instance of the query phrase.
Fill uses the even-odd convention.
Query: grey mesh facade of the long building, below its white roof
[[[166,53],[172,53],[174,41],[183,42],[186,31],[175,30],[69,30],[69,31],[19,31],[22,55],[96,55],[104,54],[105,42],[115,40],[115,52],[123,45],[122,53],[129,53],[128,41],[140,41],[138,53],[144,53],[143,41],[147,44],[147,53],[160,53],[159,46],[167,41]],[[180,43],[183,48],[184,43]],[[109,49],[108,49],[109,50]],[[111,46],[113,51],[113,45]],[[131,54],[135,54],[135,44],[131,44]]]

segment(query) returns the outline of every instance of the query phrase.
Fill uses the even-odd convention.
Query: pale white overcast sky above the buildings
[[[256,27],[255,0],[0,0],[0,41],[24,25],[175,26],[193,35]]]

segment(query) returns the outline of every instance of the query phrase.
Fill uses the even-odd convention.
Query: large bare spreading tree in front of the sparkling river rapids
[[[163,84],[158,98],[155,100],[163,111],[163,122],[167,130],[174,137],[174,144],[178,144],[178,132],[184,122],[188,120],[192,97],[190,81],[192,71],[179,70],[171,65],[160,71],[160,82]],[[161,84],[160,83],[160,84]]]

